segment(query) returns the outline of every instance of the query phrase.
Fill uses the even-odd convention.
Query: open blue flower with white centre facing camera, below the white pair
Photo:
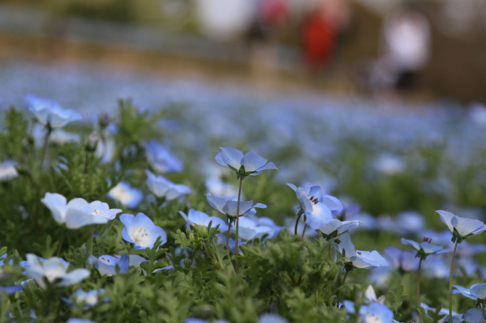
[[[121,214],[120,221],[125,225],[121,230],[121,236],[125,241],[135,243],[135,249],[153,247],[153,243],[159,236],[162,241],[161,245],[167,242],[167,234],[164,229],[154,225],[144,213],[138,213],[137,216]]]

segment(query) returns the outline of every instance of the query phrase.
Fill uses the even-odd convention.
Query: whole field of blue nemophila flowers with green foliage
[[[0,71],[0,322],[484,319],[485,107]]]

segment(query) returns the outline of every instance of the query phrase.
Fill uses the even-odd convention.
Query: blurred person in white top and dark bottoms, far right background
[[[371,68],[369,82],[376,89],[414,89],[430,56],[430,26],[413,10],[389,14],[383,23],[382,56]]]

